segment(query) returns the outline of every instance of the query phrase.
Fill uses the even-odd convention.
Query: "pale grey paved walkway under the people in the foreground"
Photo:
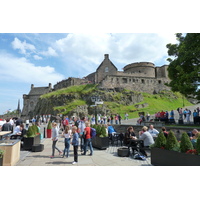
[[[150,157],[143,160],[136,160],[130,155],[129,157],[119,157],[117,155],[117,149],[119,146],[111,146],[106,150],[98,150],[94,148],[93,156],[81,155],[78,151],[78,163],[72,165],[73,159],[73,147],[70,146],[69,158],[62,158],[59,156],[57,150],[55,151],[55,157],[50,158],[52,152],[52,140],[45,138],[41,142],[44,144],[44,150],[42,152],[21,151],[20,160],[16,164],[17,166],[150,166]],[[59,138],[57,147],[64,148],[64,139]],[[89,153],[88,153],[89,154]]]

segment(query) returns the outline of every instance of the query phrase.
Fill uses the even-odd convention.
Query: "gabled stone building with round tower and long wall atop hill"
[[[86,77],[92,83],[99,84],[99,87],[126,88],[151,94],[169,90],[165,85],[169,82],[167,65],[156,67],[150,62],[138,62],[126,65],[124,71],[118,71],[110,61],[109,55],[104,56],[96,72]]]

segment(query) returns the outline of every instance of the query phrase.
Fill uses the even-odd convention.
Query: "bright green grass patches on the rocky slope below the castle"
[[[126,90],[127,91],[127,90]],[[76,106],[86,105],[87,102],[81,98],[78,99],[78,97],[82,96],[91,96],[93,93],[99,93],[102,94],[108,94],[106,91],[98,91],[97,85],[88,84],[88,85],[79,85],[79,86],[72,86],[68,88],[63,88],[60,90],[53,91],[51,93],[45,94],[41,96],[41,99],[44,98],[59,98],[61,95],[75,95],[77,94],[77,98],[68,101],[63,102],[62,106],[55,106],[53,109],[57,110],[58,112],[62,114],[67,114],[68,112],[72,111],[76,108]],[[110,93],[109,93],[110,94]],[[154,114],[155,112],[164,110],[164,111],[170,111],[170,110],[176,110],[178,107],[183,106],[183,97],[179,93],[172,93],[170,91],[163,91],[160,94],[151,95],[148,93],[142,93],[143,95],[143,101],[134,105],[123,105],[123,101],[120,101],[124,96],[123,93],[120,92],[112,92],[113,101],[105,101],[104,105],[107,106],[107,108],[111,111],[111,113],[121,114],[122,117],[124,117],[124,114],[127,112],[129,114],[129,118],[137,118],[138,112],[149,112],[150,114]],[[121,102],[121,104],[119,103]],[[141,105],[141,106],[139,106]],[[143,106],[145,105],[145,107]],[[189,106],[192,105],[190,102],[188,102],[186,99],[184,99],[184,105]],[[101,106],[99,106],[101,107]],[[138,108],[140,107],[140,108]]]

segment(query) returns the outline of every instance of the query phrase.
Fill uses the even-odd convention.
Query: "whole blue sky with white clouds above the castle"
[[[0,33],[0,114],[16,109],[23,94],[68,77],[92,73],[109,54],[118,68],[148,61],[168,64],[174,33]]]

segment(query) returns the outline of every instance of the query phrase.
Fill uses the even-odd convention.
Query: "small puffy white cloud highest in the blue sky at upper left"
[[[11,43],[13,49],[19,49],[21,54],[27,54],[27,50],[30,52],[35,51],[35,46],[26,42],[21,42],[18,38],[15,38]]]

